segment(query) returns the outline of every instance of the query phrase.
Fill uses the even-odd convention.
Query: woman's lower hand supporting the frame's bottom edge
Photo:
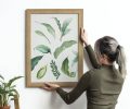
[[[44,83],[42,88],[51,92],[51,90],[55,90],[57,87],[60,87],[60,85],[57,84]]]

